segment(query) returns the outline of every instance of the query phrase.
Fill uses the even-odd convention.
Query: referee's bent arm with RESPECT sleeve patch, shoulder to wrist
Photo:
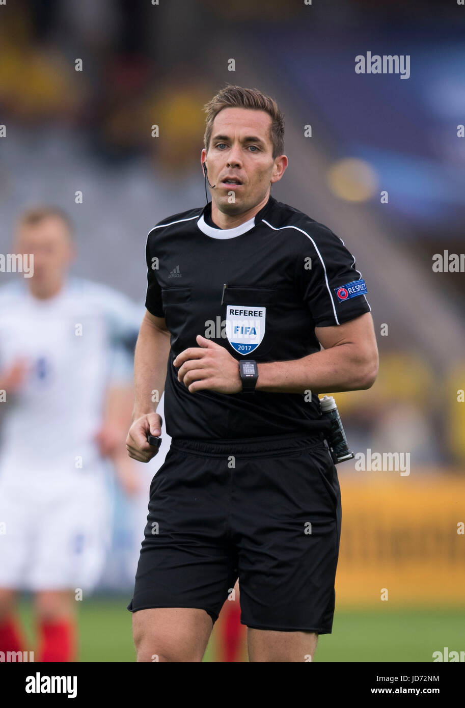
[[[311,244],[307,241],[296,259],[294,282],[309,307],[323,350],[299,360],[259,364],[256,390],[303,393],[310,389],[318,394],[369,389],[377,377],[378,349],[355,256],[323,224],[308,224],[306,229]],[[304,266],[306,256],[311,256],[309,270]]]

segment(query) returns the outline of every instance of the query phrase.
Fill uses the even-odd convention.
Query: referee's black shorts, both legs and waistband
[[[215,622],[239,577],[241,624],[331,634],[340,520],[319,434],[173,439],[151,481],[127,609],[198,607]]]

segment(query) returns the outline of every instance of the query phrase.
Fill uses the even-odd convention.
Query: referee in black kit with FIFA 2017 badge
[[[238,578],[250,661],[311,661],[341,520],[317,394],[372,386],[371,308],[343,241],[270,195],[287,168],[275,101],[228,85],[205,111],[212,201],[147,237],[128,454],[154,457],[163,389],[172,440],[127,607],[137,661],[202,661]]]

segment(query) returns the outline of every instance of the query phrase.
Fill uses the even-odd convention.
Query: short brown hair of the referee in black
[[[204,144],[208,152],[210,138],[212,137],[213,121],[223,108],[251,108],[252,110],[265,110],[271,116],[270,139],[272,142],[273,159],[284,153],[284,114],[281,113],[276,101],[259,89],[243,89],[242,86],[226,84],[224,89],[218,91],[211,101],[205,103],[203,110],[207,113],[207,127],[205,129]]]

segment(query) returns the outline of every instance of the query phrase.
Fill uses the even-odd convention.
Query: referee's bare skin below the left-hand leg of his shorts
[[[137,661],[202,661],[212,618],[193,607],[154,607],[132,613]]]

